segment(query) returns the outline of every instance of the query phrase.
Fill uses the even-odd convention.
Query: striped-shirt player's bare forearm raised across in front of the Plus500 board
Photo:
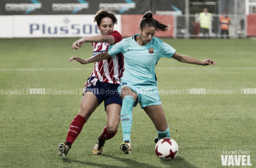
[[[115,38],[111,35],[98,35],[80,38],[72,44],[72,49],[78,50],[84,45],[85,42],[106,42],[109,44],[115,44]]]

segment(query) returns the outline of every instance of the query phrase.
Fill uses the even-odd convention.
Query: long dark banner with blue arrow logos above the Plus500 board
[[[142,14],[150,10],[150,0],[0,0],[0,15],[84,15],[100,9]]]

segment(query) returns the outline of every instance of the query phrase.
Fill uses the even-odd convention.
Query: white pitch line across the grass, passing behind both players
[[[168,69],[168,70],[256,70],[256,67],[156,67],[156,69]],[[56,68],[56,69],[0,69],[0,71],[84,71],[93,70],[93,68]]]

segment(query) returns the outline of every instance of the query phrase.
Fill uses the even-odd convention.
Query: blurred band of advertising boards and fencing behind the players
[[[219,17],[226,10],[231,18],[232,38],[256,36],[256,0],[1,0],[0,38],[83,37],[98,34],[93,16],[99,9],[117,14],[115,29],[124,37],[137,33],[137,23],[146,11],[158,15],[172,30],[156,36],[200,38],[199,13],[207,7],[214,20],[210,36],[220,38]],[[130,21],[133,21],[132,23]]]

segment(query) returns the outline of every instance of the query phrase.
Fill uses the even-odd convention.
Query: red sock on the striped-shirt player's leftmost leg
[[[73,144],[77,136],[82,131],[85,123],[86,119],[80,115],[77,115],[69,126],[69,132],[67,132],[66,142],[71,142],[71,144]]]

